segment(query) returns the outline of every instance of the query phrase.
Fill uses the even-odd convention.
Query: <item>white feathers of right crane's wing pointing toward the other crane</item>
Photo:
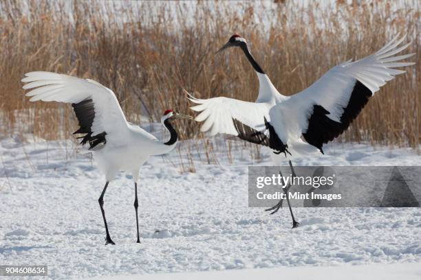
[[[188,94],[188,93],[187,93]],[[204,121],[200,131],[210,130],[210,135],[226,133],[238,135],[233,119],[255,129],[264,128],[263,118],[269,118],[270,106],[266,103],[246,102],[228,97],[214,97],[207,100],[197,99],[188,94],[188,100],[198,104],[191,107],[200,112],[195,121]]]

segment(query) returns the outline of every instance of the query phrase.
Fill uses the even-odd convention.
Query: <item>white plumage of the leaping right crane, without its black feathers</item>
[[[210,135],[225,133],[237,136],[238,132],[233,119],[256,130],[262,130],[265,128],[263,119],[266,117],[274,126],[281,141],[288,145],[292,156],[320,152],[302,139],[303,133],[307,130],[313,106],[316,104],[323,106],[330,112],[328,115],[330,119],[341,121],[343,109],[349,102],[357,80],[374,94],[380,86],[393,79],[394,75],[405,73],[393,67],[414,64],[413,62],[396,62],[414,55],[394,56],[409,46],[410,43],[398,47],[404,38],[405,36],[398,40],[396,36],[376,54],[355,62],[348,60],[333,67],[314,84],[295,95],[281,95],[266,74],[256,72],[259,78],[259,95],[256,102],[245,102],[227,97],[204,100],[189,95],[189,100],[197,104],[191,109],[199,112],[199,115],[195,117],[196,121],[204,121],[201,131],[209,131]],[[285,156],[290,157],[289,154]],[[285,159],[285,156],[272,154],[272,161],[278,165],[279,160]]]

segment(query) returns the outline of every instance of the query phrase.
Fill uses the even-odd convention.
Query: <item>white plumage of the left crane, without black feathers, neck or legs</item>
[[[114,92],[94,80],[43,71],[25,75],[22,82],[28,84],[23,89],[32,89],[26,94],[31,96],[32,102],[42,100],[77,104],[92,100],[95,109],[92,135],[106,132],[107,143],[96,146],[91,152],[107,181],[112,180],[119,171],[126,171],[131,172],[133,180],[137,182],[140,167],[149,156],[170,152],[177,144],[175,141],[173,145],[164,145],[149,132],[129,124]]]

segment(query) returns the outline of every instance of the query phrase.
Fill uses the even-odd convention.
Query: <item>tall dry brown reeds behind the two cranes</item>
[[[21,78],[54,71],[112,89],[130,121],[188,112],[182,88],[208,98],[254,101],[258,81],[239,50],[215,56],[235,32],[285,95],[325,71],[362,58],[398,32],[417,62],[369,102],[339,141],[418,150],[421,130],[420,4],[408,1],[55,1],[0,0],[0,135],[69,137],[69,105],[28,102]],[[202,137],[183,122],[184,139]],[[210,152],[211,153],[211,152]]]

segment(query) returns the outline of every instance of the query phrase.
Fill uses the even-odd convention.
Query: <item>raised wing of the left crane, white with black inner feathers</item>
[[[72,103],[80,128],[74,132],[84,134],[81,143],[94,148],[127,133],[127,121],[113,91],[94,80],[69,75],[36,71],[25,74],[23,89],[30,89],[30,101]],[[34,89],[36,88],[36,89]],[[118,141],[116,141],[117,143]]]

